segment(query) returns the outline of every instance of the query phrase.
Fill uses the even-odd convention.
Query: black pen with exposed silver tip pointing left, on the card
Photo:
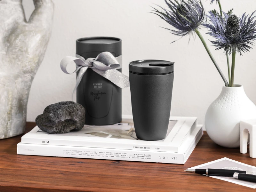
[[[253,171],[239,171],[230,169],[186,169],[185,172],[204,174],[209,176],[233,177],[235,172],[253,175]]]

